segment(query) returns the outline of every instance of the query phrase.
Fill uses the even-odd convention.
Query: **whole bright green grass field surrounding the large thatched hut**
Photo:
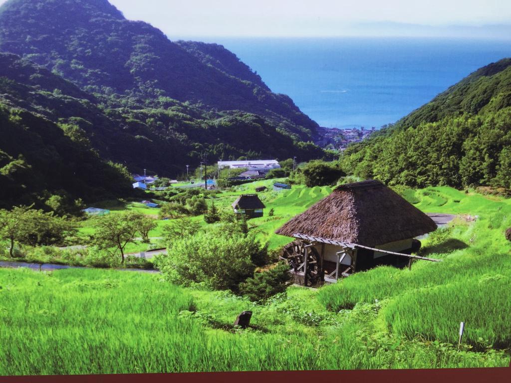
[[[271,246],[284,244],[274,229],[330,191],[269,191],[262,198],[275,216],[250,223]],[[448,187],[405,196],[424,211],[479,218],[423,240],[422,253],[440,263],[292,286],[264,304],[157,274],[0,269],[0,375],[508,366],[511,200]],[[235,329],[243,310],[253,327]]]

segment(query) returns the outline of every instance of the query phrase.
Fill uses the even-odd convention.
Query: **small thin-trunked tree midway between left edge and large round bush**
[[[121,253],[121,264],[124,264],[124,249],[133,243],[139,230],[140,216],[135,212],[126,214],[108,214],[95,219],[95,233],[92,243],[99,249],[114,248]]]

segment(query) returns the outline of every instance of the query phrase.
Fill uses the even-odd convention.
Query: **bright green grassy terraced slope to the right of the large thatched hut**
[[[479,219],[455,220],[423,241],[422,253],[442,262],[417,261],[411,271],[379,267],[357,273],[322,288],[318,300],[334,311],[384,301],[378,320],[409,340],[456,344],[459,323],[466,322],[464,339],[475,349],[511,348],[511,246],[504,238],[511,226],[510,200],[451,188],[416,195],[422,208],[447,206]]]

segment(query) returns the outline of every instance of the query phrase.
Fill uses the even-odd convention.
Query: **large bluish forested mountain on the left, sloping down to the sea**
[[[317,124],[220,45],[171,42],[106,0],[0,7],[1,98],[72,125],[101,157],[175,176],[185,164],[323,156]],[[36,65],[37,64],[37,65]]]

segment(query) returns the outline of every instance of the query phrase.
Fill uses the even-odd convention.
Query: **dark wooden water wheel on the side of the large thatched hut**
[[[313,286],[319,278],[319,254],[314,247],[308,247],[306,242],[294,241],[286,245],[281,258],[288,262],[295,273],[304,272],[305,252],[307,250],[307,286]],[[303,283],[303,282],[302,282]]]

